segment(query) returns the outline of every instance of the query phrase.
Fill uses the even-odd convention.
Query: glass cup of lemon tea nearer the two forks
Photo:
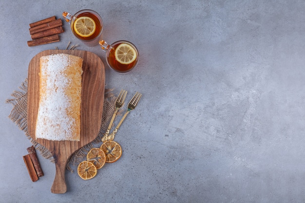
[[[99,45],[106,52],[108,66],[118,73],[131,71],[139,60],[137,48],[129,41],[120,40],[109,45],[106,41],[100,40]]]

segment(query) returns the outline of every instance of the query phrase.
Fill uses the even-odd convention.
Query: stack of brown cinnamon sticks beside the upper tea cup
[[[27,42],[29,47],[57,42],[58,34],[64,32],[61,19],[55,16],[30,23],[29,31],[33,39]]]

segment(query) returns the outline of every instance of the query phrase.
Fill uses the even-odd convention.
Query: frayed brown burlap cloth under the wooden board
[[[41,146],[38,142],[36,142],[32,137],[29,135],[28,128],[27,128],[27,85],[28,80],[25,79],[24,82],[19,87],[19,91],[14,91],[11,96],[13,98],[7,99],[6,103],[10,103],[13,105],[13,109],[9,115],[9,118],[18,125],[19,129],[23,130],[25,132],[25,135],[27,138],[31,141],[33,146],[40,152],[40,154],[46,158],[50,159],[52,162],[54,162],[54,158],[51,154],[51,152]],[[103,134],[106,132],[110,120],[112,118],[112,115],[115,111],[114,108],[114,101],[116,97],[112,93],[112,90],[106,89],[105,90],[105,96],[104,96],[104,106],[103,106],[103,115],[102,115],[102,124],[99,130],[99,133],[94,141],[91,143],[85,145],[84,147],[76,150],[72,156],[69,158],[67,162],[67,169],[72,171],[71,164],[72,165],[78,165],[84,157],[86,157],[87,153],[91,148],[94,148],[95,145],[99,146],[101,145],[101,138],[103,137]]]

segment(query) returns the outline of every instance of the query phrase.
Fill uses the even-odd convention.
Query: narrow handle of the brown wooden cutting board
[[[56,194],[62,194],[67,191],[67,184],[65,179],[65,170],[67,164],[67,157],[57,156],[54,157],[56,173],[51,192]]]

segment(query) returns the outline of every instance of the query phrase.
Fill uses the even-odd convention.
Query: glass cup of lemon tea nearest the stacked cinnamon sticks
[[[103,21],[95,11],[84,9],[77,11],[74,15],[65,11],[62,13],[62,16],[71,25],[70,28],[73,35],[85,45],[95,46],[102,39]],[[87,23],[88,20],[88,27],[79,27],[82,23]]]

